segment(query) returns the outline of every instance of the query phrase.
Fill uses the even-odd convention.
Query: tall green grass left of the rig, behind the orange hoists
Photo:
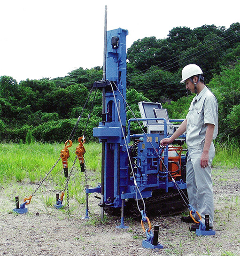
[[[69,172],[76,156],[77,145],[77,143],[73,144],[69,148]],[[0,184],[14,181],[38,183],[56,163],[63,147],[64,144],[59,143],[0,144]],[[85,149],[86,168],[99,172],[101,168],[101,144],[85,144]],[[80,170],[78,160],[75,166]],[[53,180],[54,183],[62,185],[64,182],[62,176],[62,161],[60,160],[48,178]]]

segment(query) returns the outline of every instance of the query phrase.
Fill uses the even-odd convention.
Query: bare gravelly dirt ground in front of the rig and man
[[[71,214],[43,205],[36,195],[27,214],[13,214],[14,196],[28,195],[29,184],[0,189],[0,255],[6,256],[168,256],[240,255],[240,170],[214,168],[215,236],[196,236],[181,223],[181,214],[155,217],[160,225],[158,242],[163,249],[142,247],[146,239],[140,222],[125,219],[128,229],[117,229],[119,217],[100,221],[99,200],[90,195],[90,220],[83,220],[85,206],[70,200]],[[52,193],[45,185],[44,193]],[[33,188],[32,188],[33,189]],[[23,193],[24,194],[24,193]]]

